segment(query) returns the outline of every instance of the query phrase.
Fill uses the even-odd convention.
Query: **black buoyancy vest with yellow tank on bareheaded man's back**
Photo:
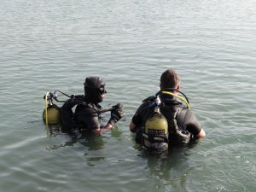
[[[148,118],[143,126],[143,148],[162,152],[170,144],[190,142],[191,133],[185,126],[177,123],[177,116],[183,108],[182,102],[160,101],[158,96],[150,96],[143,102],[148,102],[148,108],[154,108],[154,111],[147,110],[147,113],[151,114],[147,115]]]

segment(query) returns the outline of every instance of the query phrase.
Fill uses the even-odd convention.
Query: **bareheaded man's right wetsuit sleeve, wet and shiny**
[[[195,114],[188,108],[183,108],[181,113],[179,113],[177,122],[180,125],[185,125],[186,129],[194,136],[197,136],[201,131],[199,121],[196,119]]]

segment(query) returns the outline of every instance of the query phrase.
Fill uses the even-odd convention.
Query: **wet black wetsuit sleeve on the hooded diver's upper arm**
[[[96,130],[101,126],[96,110],[93,108],[78,106],[75,112],[75,119],[79,128]]]

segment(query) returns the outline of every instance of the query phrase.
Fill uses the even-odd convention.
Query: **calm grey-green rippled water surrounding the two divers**
[[[255,34],[255,0],[2,0],[0,191],[255,191]],[[207,137],[148,156],[128,127],[169,67]],[[124,104],[117,128],[46,129],[46,91],[83,94],[90,75],[104,108]]]

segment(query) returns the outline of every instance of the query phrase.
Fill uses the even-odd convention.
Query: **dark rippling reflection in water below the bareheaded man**
[[[183,191],[186,187],[186,177],[195,165],[189,158],[190,146],[170,148],[166,154],[148,154],[142,150],[139,155],[147,161],[149,177],[154,179],[154,188],[172,191],[171,186],[176,186],[174,190]]]

